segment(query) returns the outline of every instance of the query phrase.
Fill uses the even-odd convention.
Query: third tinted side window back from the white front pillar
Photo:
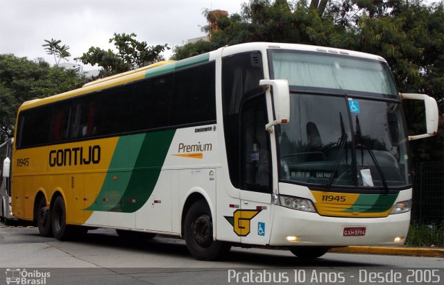
[[[97,135],[130,131],[132,85],[123,85],[101,92],[100,123]]]

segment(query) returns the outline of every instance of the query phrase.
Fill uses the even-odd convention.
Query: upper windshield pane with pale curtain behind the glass
[[[359,95],[398,98],[385,62],[330,53],[271,50],[275,79],[299,89],[341,90]]]

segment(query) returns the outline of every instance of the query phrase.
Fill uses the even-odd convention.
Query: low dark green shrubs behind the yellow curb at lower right
[[[413,247],[444,247],[444,224],[425,225],[423,223],[413,223],[410,225],[405,245]]]

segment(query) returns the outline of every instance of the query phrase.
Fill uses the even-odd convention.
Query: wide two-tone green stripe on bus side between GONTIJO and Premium
[[[132,213],[140,209],[153,193],[175,133],[163,130],[120,137],[101,191],[85,210]]]

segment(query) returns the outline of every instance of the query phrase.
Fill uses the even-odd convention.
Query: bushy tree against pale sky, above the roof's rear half
[[[146,42],[139,42],[135,37],[137,37],[135,33],[114,33],[114,36],[110,38],[110,43],[114,42],[117,53],[111,49],[105,51],[91,46],[87,53],[83,53],[75,60],[80,60],[83,64],[97,64],[102,67],[99,77],[119,74],[163,60],[161,53],[169,49],[167,44],[148,46]]]

